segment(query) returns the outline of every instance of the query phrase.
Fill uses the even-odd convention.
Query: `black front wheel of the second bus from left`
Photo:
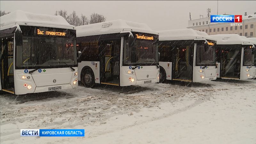
[[[85,69],[83,72],[83,84],[86,87],[93,87],[95,85],[94,73],[91,69]]]

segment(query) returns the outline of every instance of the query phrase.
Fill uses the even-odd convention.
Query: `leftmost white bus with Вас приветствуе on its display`
[[[61,16],[15,11],[0,17],[0,90],[12,94],[78,87],[76,29]]]

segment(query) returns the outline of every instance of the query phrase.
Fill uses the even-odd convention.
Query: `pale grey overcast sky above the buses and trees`
[[[256,12],[256,1],[218,1],[218,14],[243,15]],[[104,15],[107,20],[123,19],[146,23],[153,30],[180,29],[188,27],[191,18],[199,19],[200,14],[217,14],[217,1],[3,1],[0,10],[13,12],[22,10],[33,13],[54,15],[57,10],[68,13],[76,11],[89,15],[93,12]]]

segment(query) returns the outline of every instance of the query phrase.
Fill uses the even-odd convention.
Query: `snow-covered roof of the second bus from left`
[[[158,35],[156,31],[153,31],[151,28],[148,27],[147,24],[144,23],[137,23],[126,20],[111,20],[89,25],[77,26],[76,36],[96,36],[120,33],[122,31],[136,31]]]

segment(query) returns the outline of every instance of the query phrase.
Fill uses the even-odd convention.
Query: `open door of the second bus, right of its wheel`
[[[105,40],[102,53],[102,84],[120,84],[121,40]]]

